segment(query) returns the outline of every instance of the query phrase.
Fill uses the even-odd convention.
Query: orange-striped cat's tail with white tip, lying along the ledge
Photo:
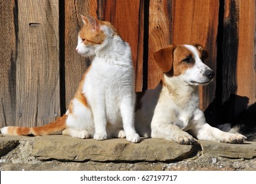
[[[57,118],[55,122],[51,122],[45,126],[40,127],[16,127],[7,126],[0,129],[1,133],[5,135],[51,135],[59,133],[66,129],[66,114],[61,118]]]

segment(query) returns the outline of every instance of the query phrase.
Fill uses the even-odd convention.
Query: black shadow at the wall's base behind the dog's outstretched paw
[[[205,110],[208,124],[222,131],[239,127],[239,132],[248,140],[256,139],[256,103],[249,104],[249,98],[234,94],[224,104],[217,103],[215,98]]]

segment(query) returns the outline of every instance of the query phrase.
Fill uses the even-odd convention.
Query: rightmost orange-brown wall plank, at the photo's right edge
[[[256,102],[255,68],[255,1],[239,1],[238,20],[238,62],[236,95],[247,97],[249,104]],[[239,110],[236,103],[236,111]],[[242,109],[240,109],[242,110]],[[237,113],[237,112],[235,112]]]

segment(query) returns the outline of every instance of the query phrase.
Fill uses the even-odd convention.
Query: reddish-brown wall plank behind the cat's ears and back
[[[144,0],[102,1],[99,17],[115,26],[118,34],[128,42],[132,50],[136,91],[143,83],[143,9]]]

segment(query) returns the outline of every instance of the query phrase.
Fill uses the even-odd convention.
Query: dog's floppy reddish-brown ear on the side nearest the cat
[[[168,45],[154,53],[154,59],[163,72],[170,72],[173,62],[173,51],[176,45]]]

